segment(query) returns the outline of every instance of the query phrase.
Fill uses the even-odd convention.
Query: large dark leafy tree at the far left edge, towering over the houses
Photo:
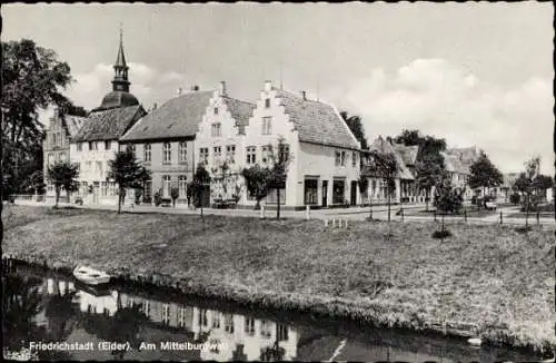
[[[70,67],[51,49],[34,41],[2,42],[2,171],[8,192],[20,192],[22,180],[42,168],[44,127],[39,109],[70,108],[61,94],[72,81]]]

